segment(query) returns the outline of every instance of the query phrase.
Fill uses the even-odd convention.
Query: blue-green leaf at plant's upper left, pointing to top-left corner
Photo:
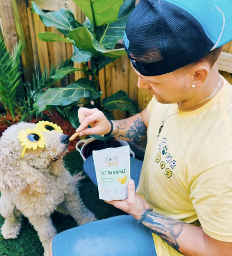
[[[32,2],[32,12],[40,16],[41,21],[46,27],[56,27],[65,36],[69,35],[69,31],[83,26],[75,20],[73,12],[70,10],[60,9],[57,12],[43,12],[40,7]]]

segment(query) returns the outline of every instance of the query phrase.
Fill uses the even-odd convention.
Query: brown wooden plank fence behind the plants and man
[[[84,0],[83,0],[84,1]],[[79,10],[73,0],[33,0],[43,11],[57,11],[60,8],[67,8],[73,11],[76,20],[84,20],[83,13]],[[55,28],[45,27],[38,15],[31,12],[32,0],[0,0],[0,15],[2,33],[6,46],[13,49],[18,39],[26,42],[25,50],[22,53],[22,67],[25,71],[25,79],[32,79],[35,70],[43,72],[50,65],[61,63],[72,55],[72,46],[63,42],[43,42],[38,39],[38,32],[58,32]],[[226,44],[223,53],[218,60],[221,74],[232,83],[232,42]],[[75,64],[80,67],[80,64]],[[83,77],[83,73],[76,72],[70,76],[65,84],[71,80]],[[65,84],[62,84],[64,86]],[[147,106],[151,95],[146,90],[137,88],[137,76],[134,74],[130,62],[126,56],[115,60],[104,69],[100,70],[100,84],[103,97],[122,89],[129,97],[138,103],[138,109],[142,110]],[[58,84],[60,86],[60,84]],[[124,118],[125,114],[116,111],[115,118]]]

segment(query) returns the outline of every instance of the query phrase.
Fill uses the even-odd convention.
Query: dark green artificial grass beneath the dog
[[[78,151],[69,153],[64,158],[65,165],[71,174],[81,172],[83,170],[83,159]],[[103,200],[99,200],[98,188],[91,182],[89,177],[85,177],[80,181],[80,196],[86,207],[92,211],[97,219],[105,219],[107,217],[122,215],[124,212],[108,205]],[[64,216],[59,212],[52,214],[52,222],[56,227],[57,233],[63,230],[77,226],[71,216]],[[4,220],[0,215],[0,226]],[[33,226],[24,217],[20,234],[16,239],[6,240],[0,235],[0,255],[2,256],[42,256],[43,247],[38,238],[37,232]]]

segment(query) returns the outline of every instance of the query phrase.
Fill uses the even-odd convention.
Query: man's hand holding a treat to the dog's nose
[[[111,129],[111,124],[107,117],[98,108],[80,107],[78,118],[81,125],[76,129],[76,132],[79,132],[79,136],[91,134],[104,135]],[[91,128],[88,128],[89,125]]]

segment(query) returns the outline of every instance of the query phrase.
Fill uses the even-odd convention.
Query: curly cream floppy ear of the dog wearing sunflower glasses
[[[0,191],[45,193],[43,174],[25,160],[15,159],[11,153],[0,151],[0,163]]]

